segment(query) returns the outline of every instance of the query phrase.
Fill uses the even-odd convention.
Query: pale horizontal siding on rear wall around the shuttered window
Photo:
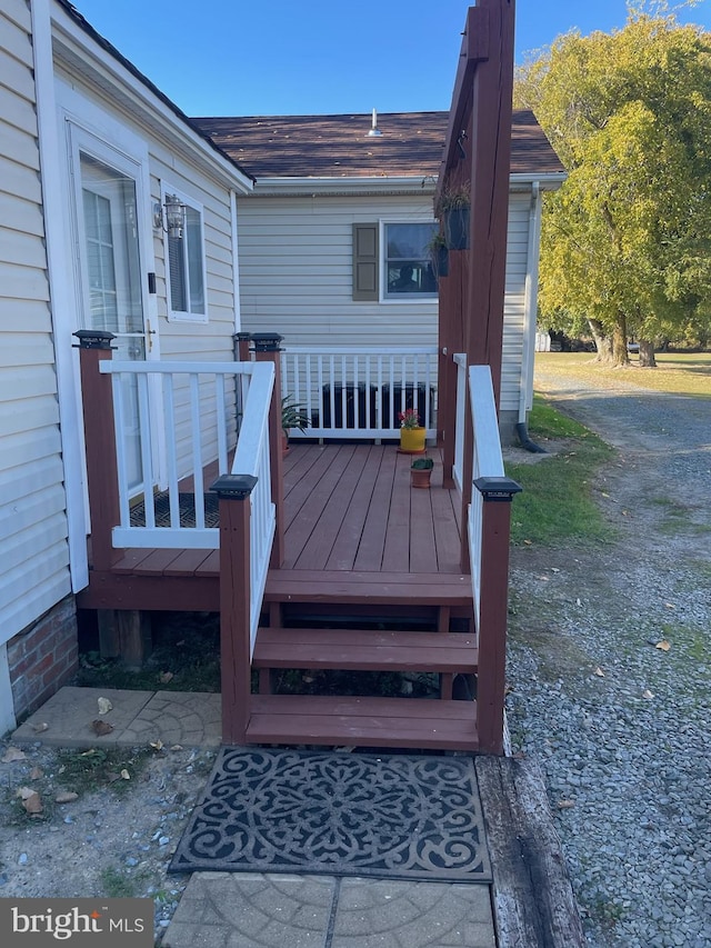
[[[511,194],[501,398],[509,410],[519,406],[529,207],[529,194]],[[437,298],[352,298],[353,226],[431,216],[421,194],[240,199],[242,328],[279,332],[286,346],[437,346]]]

